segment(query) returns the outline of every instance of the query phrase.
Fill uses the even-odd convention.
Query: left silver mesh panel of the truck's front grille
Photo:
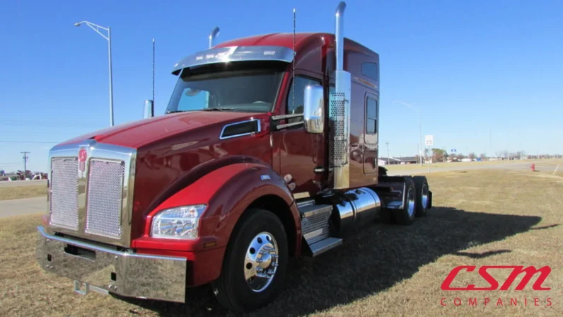
[[[79,228],[78,158],[51,161],[50,223],[76,230]]]

